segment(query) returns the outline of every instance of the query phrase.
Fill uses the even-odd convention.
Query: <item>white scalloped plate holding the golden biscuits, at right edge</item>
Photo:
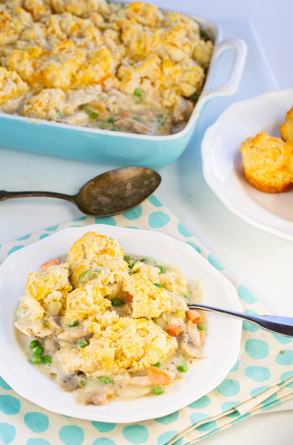
[[[293,89],[271,91],[230,105],[205,132],[203,176],[220,200],[247,223],[293,240],[293,189],[263,193],[245,180],[241,143],[266,131],[281,138],[279,125],[293,105]]]

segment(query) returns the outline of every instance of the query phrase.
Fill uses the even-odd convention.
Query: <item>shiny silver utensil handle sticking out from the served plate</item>
[[[291,317],[242,314],[241,312],[233,312],[228,311],[227,309],[220,309],[219,307],[194,303],[189,303],[187,306],[189,309],[202,309],[203,311],[226,314],[240,320],[248,321],[248,323],[255,324],[265,331],[274,332],[285,337],[293,337],[293,318]]]

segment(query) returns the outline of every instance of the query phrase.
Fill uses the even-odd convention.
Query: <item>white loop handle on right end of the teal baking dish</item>
[[[234,52],[234,61],[228,81],[223,85],[212,87],[216,64],[220,56],[228,49],[232,49]],[[215,46],[207,80],[199,99],[200,108],[214,97],[231,96],[231,94],[236,93],[244,70],[246,56],[247,45],[242,39],[226,39]]]

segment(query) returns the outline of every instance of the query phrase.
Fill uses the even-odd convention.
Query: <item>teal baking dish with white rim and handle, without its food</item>
[[[207,102],[214,97],[228,96],[236,92],[247,53],[243,40],[227,39],[220,42],[221,32],[215,23],[203,17],[191,17],[199,23],[202,30],[214,37],[215,47],[203,91],[182,131],[168,136],[147,136],[0,113],[0,145],[33,153],[119,166],[159,169],[174,162],[187,147],[199,114]],[[217,60],[228,49],[235,53],[229,79],[225,84],[212,88]]]

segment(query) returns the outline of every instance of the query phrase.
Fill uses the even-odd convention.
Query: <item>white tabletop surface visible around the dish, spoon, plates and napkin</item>
[[[292,88],[293,2],[289,0],[153,0],[164,8],[206,16],[216,22],[248,18],[257,30],[280,89]],[[291,55],[291,56],[290,56]],[[90,178],[115,166],[0,148],[0,188],[76,193]],[[224,267],[242,281],[270,312],[293,316],[293,243],[260,231],[230,213],[206,185],[199,147],[189,147],[159,172],[157,196]],[[13,199],[0,204],[0,244],[81,216],[71,203],[51,198]],[[281,404],[279,409],[293,405]],[[207,445],[292,444],[292,411],[254,416],[205,439]],[[253,438],[253,439],[252,439]]]

